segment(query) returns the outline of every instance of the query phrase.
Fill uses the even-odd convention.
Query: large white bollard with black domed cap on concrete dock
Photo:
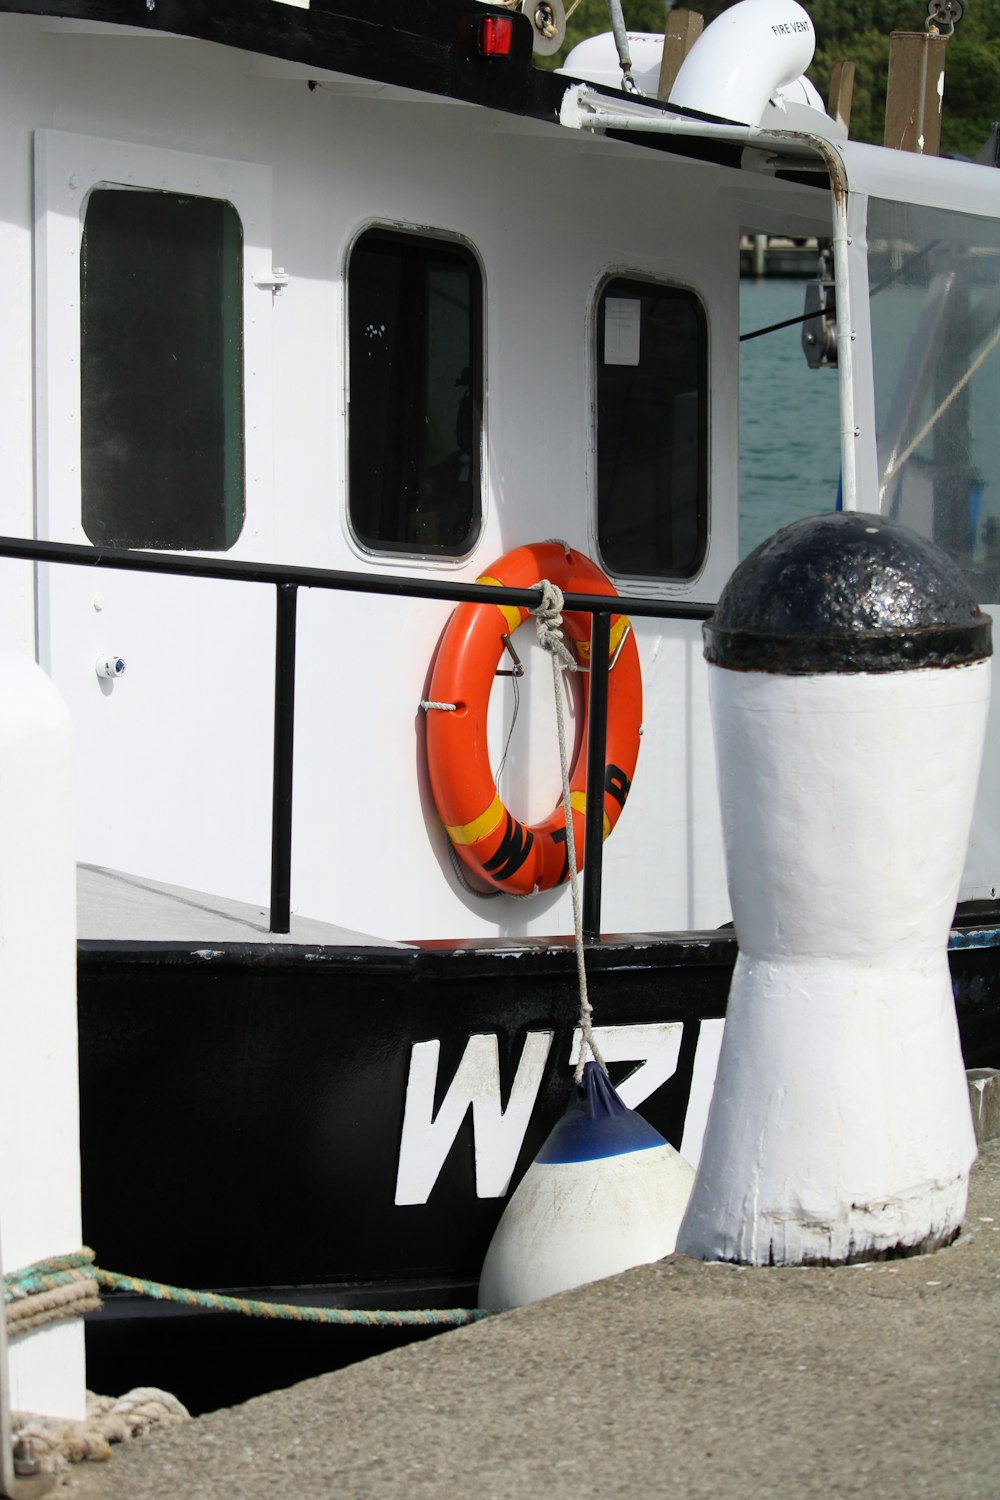
[[[841,1263],[958,1233],[946,944],[990,651],[958,567],[859,512],[780,531],[706,622],[739,958],[678,1250]]]

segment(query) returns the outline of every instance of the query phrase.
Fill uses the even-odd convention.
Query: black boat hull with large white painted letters
[[[952,939],[969,1066],[1000,1062],[997,940],[982,926]],[[675,1046],[679,1028],[676,1066],[640,1106],[675,1146],[702,1023],[724,1016],[735,958],[732,930],[607,939],[589,954],[600,1024],[675,1023]],[[81,944],[85,1242],[106,1269],[180,1286],[354,1306],[469,1305],[504,1208],[496,1180],[477,1168],[477,1132],[507,1119],[516,1184],[565,1107],[576,1020],[567,942]],[[546,1034],[534,1108],[511,1144],[511,1086],[528,1038]],[[441,1160],[424,1173],[426,1202],[397,1202],[406,1131],[432,1143],[471,1038],[492,1036],[499,1092],[487,1096],[489,1078],[472,1083],[454,1137],[429,1146]],[[433,1116],[406,1124],[415,1048],[427,1042],[439,1042]],[[532,1047],[540,1058],[544,1040]],[[462,1102],[459,1089],[453,1113]],[[415,1149],[411,1140],[411,1160]],[[115,1294],[90,1320],[88,1378],[109,1390],[171,1384],[204,1408],[399,1340]]]

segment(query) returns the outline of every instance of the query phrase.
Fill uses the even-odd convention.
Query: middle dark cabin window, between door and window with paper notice
[[[369,230],[348,296],[352,531],[373,550],[462,556],[481,519],[475,258],[450,240]]]

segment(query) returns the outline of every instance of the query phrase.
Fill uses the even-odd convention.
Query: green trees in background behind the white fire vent
[[[690,0],[705,24],[729,9],[729,0]],[[664,0],[622,0],[630,32],[663,32]],[[568,9],[568,6],[567,6]],[[925,0],[805,0],[816,27],[816,57],[810,78],[826,99],[831,69],[840,57],[858,64],[850,134],[856,141],[882,142],[886,116],[889,33],[922,32]],[[570,16],[567,46],[610,30],[606,0],[579,0]],[[975,156],[1000,118],[1000,0],[966,0],[966,15],[948,44],[942,152]]]

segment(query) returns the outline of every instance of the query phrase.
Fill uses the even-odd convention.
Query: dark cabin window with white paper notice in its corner
[[[597,309],[597,536],[612,573],[693,578],[708,542],[708,336],[679,286],[616,279]]]

